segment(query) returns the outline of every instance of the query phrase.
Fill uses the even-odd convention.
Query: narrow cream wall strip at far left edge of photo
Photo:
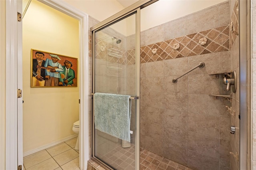
[[[5,169],[5,1],[0,1],[0,169]]]

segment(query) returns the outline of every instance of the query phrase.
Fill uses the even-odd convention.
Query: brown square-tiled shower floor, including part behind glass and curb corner
[[[98,155],[98,157],[117,170],[134,170],[135,169],[135,146],[132,144],[130,148],[122,148],[117,146],[108,153]],[[88,163],[94,162],[90,160]],[[88,164],[88,165],[89,165]],[[96,166],[88,168],[88,170],[99,170],[102,167],[94,162]],[[140,148],[140,170],[192,170],[182,164],[164,158],[158,154],[154,154],[148,150]]]

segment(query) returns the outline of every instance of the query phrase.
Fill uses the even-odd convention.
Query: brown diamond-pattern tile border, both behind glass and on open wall
[[[231,43],[229,35],[230,26],[225,25],[163,42],[145,45],[140,47],[140,63],[229,51]],[[96,58],[123,65],[135,64],[135,49],[124,51],[122,52],[123,57],[116,58],[108,56],[108,49],[112,47],[110,43],[104,41],[98,42],[96,44]],[[114,48],[122,51],[118,47]]]

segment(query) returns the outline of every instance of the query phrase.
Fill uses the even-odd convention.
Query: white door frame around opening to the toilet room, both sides
[[[6,170],[23,164],[22,97],[17,99],[17,89],[22,89],[22,22],[17,22],[21,12],[20,0],[6,0]],[[79,165],[86,170],[89,160],[89,52],[88,14],[62,0],[40,2],[79,20]],[[18,66],[18,67],[16,67]],[[18,74],[19,72],[19,74]],[[20,110],[20,111],[18,111]],[[18,158],[18,161],[17,161]]]

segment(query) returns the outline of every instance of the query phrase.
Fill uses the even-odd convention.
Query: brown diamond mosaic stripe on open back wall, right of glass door
[[[199,44],[201,38],[207,39],[206,44]],[[174,49],[177,44],[180,47]],[[164,42],[142,46],[140,48],[140,63],[228,51],[229,48],[229,25],[225,25]],[[156,49],[155,54],[152,51],[153,49]]]

